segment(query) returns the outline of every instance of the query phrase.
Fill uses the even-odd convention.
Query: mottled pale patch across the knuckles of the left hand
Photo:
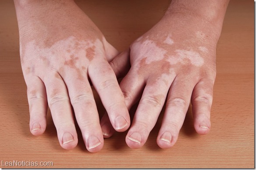
[[[43,70],[57,71],[60,76],[55,74],[56,78],[65,78],[65,72],[70,72],[72,69],[76,72],[73,77],[84,81],[87,77],[86,69],[88,67],[86,65],[96,55],[103,54],[101,47],[102,43],[98,39],[96,41],[78,41],[75,37],[56,42],[50,48],[42,48],[37,46],[35,41],[31,41],[27,44],[25,54],[21,57],[24,61],[22,68],[26,68],[25,74],[34,71],[33,74],[39,77],[47,75]],[[55,53],[53,54],[52,51]],[[31,57],[29,54],[34,55]],[[32,70],[33,68],[35,69]]]

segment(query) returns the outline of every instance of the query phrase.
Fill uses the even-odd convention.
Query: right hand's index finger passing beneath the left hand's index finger
[[[128,72],[128,74],[122,79],[120,83],[120,88],[124,95],[125,104],[128,110],[131,109],[132,105],[134,105],[138,100],[139,97],[142,95],[143,88],[145,87],[145,80],[142,77],[136,76],[137,72],[135,69],[132,69]],[[110,137],[113,133],[113,127],[109,121],[107,113],[101,119],[101,127],[104,137]]]

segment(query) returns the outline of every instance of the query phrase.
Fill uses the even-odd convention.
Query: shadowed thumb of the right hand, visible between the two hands
[[[117,55],[109,64],[114,70],[117,78],[121,78],[126,75],[131,68],[130,48]]]

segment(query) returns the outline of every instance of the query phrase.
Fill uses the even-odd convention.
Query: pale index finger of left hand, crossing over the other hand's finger
[[[114,129],[118,132],[127,130],[130,126],[130,116],[111,66],[106,60],[96,61],[89,66],[88,73]]]

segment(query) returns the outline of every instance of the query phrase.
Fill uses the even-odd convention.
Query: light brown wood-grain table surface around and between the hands
[[[79,0],[77,3],[107,40],[122,51],[160,20],[169,0]],[[97,95],[96,101],[103,112]],[[46,132],[33,136],[29,131],[14,3],[0,1],[0,161],[53,161],[50,168],[254,168],[252,0],[231,0],[228,6],[217,46],[210,133],[199,136],[192,120],[189,108],[178,142],[167,150],[156,144],[160,119],[145,146],[138,150],[126,145],[125,132],[106,139],[99,153],[89,153],[79,130],[78,146],[64,150],[59,145],[50,112]]]

